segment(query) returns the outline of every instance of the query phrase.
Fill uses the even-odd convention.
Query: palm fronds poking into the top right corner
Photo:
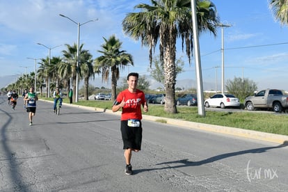
[[[288,0],[270,0],[271,10],[275,19],[282,25],[288,24]]]

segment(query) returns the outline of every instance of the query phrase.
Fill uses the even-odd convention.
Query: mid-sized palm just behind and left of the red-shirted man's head
[[[131,54],[127,54],[126,51],[121,49],[122,42],[112,35],[109,40],[104,39],[104,44],[101,45],[102,50],[98,50],[103,54],[98,58],[95,58],[95,71],[102,72],[102,81],[109,80],[109,74],[111,71],[111,98],[116,99],[117,80],[120,77],[120,70],[124,70],[126,65],[134,65]]]

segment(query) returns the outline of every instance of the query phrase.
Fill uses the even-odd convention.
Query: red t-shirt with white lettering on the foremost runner
[[[142,90],[136,90],[136,93],[131,93],[128,89],[123,90],[117,96],[117,102],[126,102],[125,106],[122,107],[121,120],[129,119],[142,119],[141,104],[146,102],[145,95]]]

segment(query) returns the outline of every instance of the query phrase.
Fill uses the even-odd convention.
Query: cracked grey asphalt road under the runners
[[[287,191],[288,147],[143,120],[125,175],[120,116],[0,97],[0,191]]]

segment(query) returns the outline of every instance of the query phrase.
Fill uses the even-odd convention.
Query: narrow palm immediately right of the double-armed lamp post
[[[88,50],[83,50],[80,56],[80,78],[84,79],[84,100],[88,100],[88,86],[89,79],[92,77],[95,79],[95,72],[93,69],[92,55]]]

